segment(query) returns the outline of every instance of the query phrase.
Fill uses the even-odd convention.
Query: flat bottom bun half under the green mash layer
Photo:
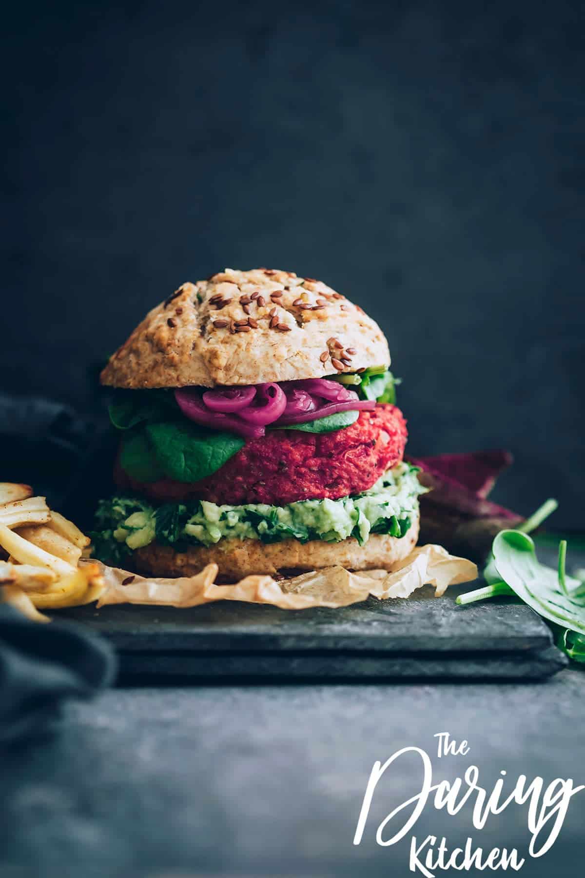
[[[390,570],[414,549],[418,537],[418,514],[412,518],[407,533],[396,536],[373,534],[360,546],[357,540],[325,543],[311,540],[282,540],[281,543],[260,543],[260,540],[223,539],[214,546],[193,546],[177,552],[171,546],[150,543],[134,552],[138,571],[147,576],[193,576],[207,564],[217,564],[219,575],[237,582],[254,573],[303,572],[339,565],[346,570]]]

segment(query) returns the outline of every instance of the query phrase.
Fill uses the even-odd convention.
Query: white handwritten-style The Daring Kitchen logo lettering
[[[457,744],[447,731],[437,732],[434,738],[439,739],[437,751],[439,759],[446,756],[467,756],[469,752],[467,741]],[[567,780],[557,778],[545,787],[541,777],[536,777],[529,783],[526,776],[520,774],[515,783],[512,781],[511,792],[504,795],[504,786],[510,789],[510,780],[506,778],[506,772],[500,772],[503,776],[498,778],[494,788],[488,791],[478,782],[479,769],[474,765],[467,768],[463,778],[458,777],[453,782],[440,781],[433,784],[432,761],[428,753],[419,747],[403,747],[390,756],[383,765],[378,761],[372,767],[353,837],[354,845],[360,845],[363,838],[378,781],[384,774],[388,775],[389,780],[391,766],[409,753],[416,754],[416,758],[420,759],[422,769],[420,789],[416,795],[412,795],[384,817],[377,827],[375,840],[383,847],[396,845],[397,841],[404,838],[415,827],[427,802],[437,810],[446,809],[452,816],[459,814],[460,810],[469,803],[469,807],[473,808],[473,824],[478,831],[483,829],[490,815],[502,814],[511,805],[527,804],[526,819],[531,833],[527,855],[541,857],[551,849],[558,838],[572,796],[585,789],[585,786],[575,787],[571,778]],[[379,795],[381,794],[378,793]],[[406,810],[410,806],[411,810]],[[405,814],[409,816],[404,817]],[[418,838],[412,835],[410,838],[410,872],[419,872],[426,878],[434,878],[439,869],[468,871],[472,868],[492,870],[510,868],[518,871],[524,866],[525,861],[515,847],[510,850],[505,847],[494,847],[490,851],[484,851],[482,847],[474,845],[473,838],[467,838],[464,847],[453,850],[449,850],[444,836],[437,838],[434,835],[427,835],[426,838]]]

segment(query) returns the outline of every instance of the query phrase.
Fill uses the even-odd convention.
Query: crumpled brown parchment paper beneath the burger
[[[146,579],[103,565],[103,592],[98,607],[134,603],[155,606],[197,607],[211,601],[266,603],[282,609],[346,607],[376,598],[407,598],[424,585],[445,594],[446,587],[477,577],[477,567],[465,558],[449,555],[439,545],[417,546],[391,571],[369,570],[352,573],[343,567],[326,567],[292,579],[276,581],[271,576],[246,576],[232,586],[216,586],[218,565],[207,565],[196,576],[178,579]],[[125,583],[125,585],[123,585]]]

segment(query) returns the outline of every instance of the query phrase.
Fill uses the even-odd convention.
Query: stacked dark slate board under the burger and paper
[[[567,665],[530,608],[507,599],[456,606],[469,588],[437,599],[425,587],[408,600],[369,598],[339,609],[223,601],[189,609],[94,605],[58,615],[111,640],[131,681],[535,680]]]

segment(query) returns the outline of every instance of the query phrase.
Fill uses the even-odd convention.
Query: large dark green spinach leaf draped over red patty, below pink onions
[[[244,445],[238,435],[206,430],[186,419],[147,424],[145,432],[161,469],[177,482],[205,479]]]

